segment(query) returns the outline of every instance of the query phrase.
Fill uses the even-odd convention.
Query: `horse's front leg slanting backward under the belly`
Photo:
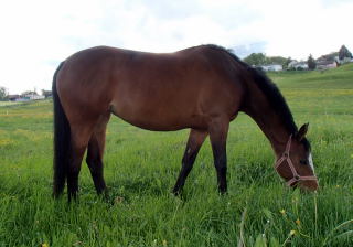
[[[176,180],[173,193],[178,195],[184,186],[185,180],[194,164],[199,150],[207,137],[206,131],[191,129],[189,140],[182,159],[182,168]]]

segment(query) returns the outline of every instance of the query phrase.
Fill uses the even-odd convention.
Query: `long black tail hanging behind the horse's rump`
[[[71,139],[69,124],[56,92],[56,75],[63,64],[64,62],[60,64],[54,74],[52,88],[54,104],[54,197],[58,197],[64,191],[68,169]]]

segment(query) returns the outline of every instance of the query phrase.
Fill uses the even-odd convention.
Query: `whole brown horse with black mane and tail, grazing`
[[[201,45],[175,53],[145,53],[114,47],[81,51],[54,75],[54,190],[67,181],[68,198],[78,191],[85,150],[95,187],[106,190],[103,154],[111,114],[148,130],[190,128],[182,168],[173,189],[182,190],[197,152],[210,135],[217,183],[226,192],[226,140],[238,111],[249,115],[270,141],[276,169],[289,185],[317,190],[304,138],[278,88],[228,50]]]

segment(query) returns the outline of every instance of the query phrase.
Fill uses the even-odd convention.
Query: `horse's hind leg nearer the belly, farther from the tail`
[[[98,194],[106,191],[103,175],[103,155],[106,141],[106,128],[110,114],[101,116],[89,139],[86,162]]]

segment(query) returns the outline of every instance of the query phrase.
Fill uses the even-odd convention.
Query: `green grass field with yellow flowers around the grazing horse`
[[[110,201],[83,163],[79,202],[51,197],[52,104],[0,107],[0,246],[353,246],[353,65],[269,74],[308,138],[318,193],[286,187],[259,128],[232,122],[228,194],[210,142],[183,192],[171,195],[188,130],[150,132],[111,118],[105,155]]]

